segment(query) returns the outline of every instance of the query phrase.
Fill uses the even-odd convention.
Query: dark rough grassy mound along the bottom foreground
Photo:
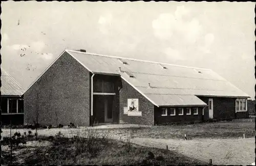
[[[157,148],[148,148],[125,142],[98,137],[93,131],[86,133],[87,138],[63,137],[57,133],[52,137],[38,136],[37,142],[51,142],[51,145],[18,146],[12,164],[67,165],[195,165],[205,164],[179,153]],[[153,155],[152,155],[153,154]],[[11,164],[9,153],[3,153],[5,164]]]

